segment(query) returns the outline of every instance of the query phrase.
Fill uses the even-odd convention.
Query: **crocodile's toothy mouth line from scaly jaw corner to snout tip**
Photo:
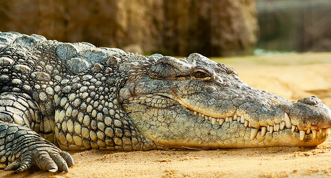
[[[219,127],[222,127],[224,123],[236,122],[237,124],[242,125],[242,127],[250,128],[251,129],[250,140],[253,140],[258,134],[260,134],[261,137],[264,137],[266,133],[269,134],[280,133],[284,130],[291,130],[291,132],[299,133],[299,140],[304,140],[305,136],[315,139],[318,134],[329,135],[331,132],[330,127],[319,128],[319,129],[308,128],[307,130],[299,129],[296,125],[292,124],[291,118],[286,112],[284,112],[284,115],[280,123],[275,123],[274,125],[260,126],[259,128],[256,128],[251,126],[249,117],[245,116],[244,113],[241,114],[237,113],[236,110],[234,110],[233,114],[231,115],[227,115],[223,117],[213,117],[206,113],[201,113],[192,109],[195,107],[189,107],[181,100],[176,101],[175,99],[172,98],[176,98],[176,97],[169,94],[159,94],[159,95],[149,94],[149,95],[130,97],[127,100],[124,100],[123,104],[136,103],[153,108],[168,108],[174,105],[180,105],[186,108],[192,115],[196,116],[198,118],[198,121],[207,122],[211,124],[211,126],[217,124]],[[224,114],[220,114],[220,115],[224,115]]]

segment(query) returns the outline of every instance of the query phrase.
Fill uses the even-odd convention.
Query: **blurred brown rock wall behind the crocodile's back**
[[[254,0],[0,0],[0,31],[63,42],[187,55],[255,48]]]

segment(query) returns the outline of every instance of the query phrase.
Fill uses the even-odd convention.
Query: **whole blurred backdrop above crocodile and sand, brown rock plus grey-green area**
[[[330,0],[0,0],[0,31],[187,56],[331,51]]]

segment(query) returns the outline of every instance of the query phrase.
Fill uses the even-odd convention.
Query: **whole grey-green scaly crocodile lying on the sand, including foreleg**
[[[192,53],[144,56],[0,33],[0,168],[68,172],[67,150],[315,146],[331,110],[257,90]]]

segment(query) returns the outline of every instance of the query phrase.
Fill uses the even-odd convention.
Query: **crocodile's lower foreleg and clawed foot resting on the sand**
[[[56,172],[68,172],[72,157],[45,140],[35,131],[11,123],[0,122],[0,167],[24,171],[33,166]]]

